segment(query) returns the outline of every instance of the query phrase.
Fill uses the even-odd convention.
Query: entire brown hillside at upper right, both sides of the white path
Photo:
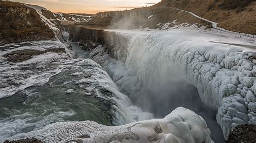
[[[163,0],[147,8],[127,11],[99,12],[96,18],[85,24],[87,27],[111,28],[161,28],[186,23],[207,25],[196,15],[219,23],[226,30],[256,34],[256,0]],[[174,21],[174,22],[173,22]],[[85,26],[84,25],[84,26]],[[82,26],[82,25],[79,25]]]

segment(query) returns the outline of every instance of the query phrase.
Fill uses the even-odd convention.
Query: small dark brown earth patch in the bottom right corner
[[[256,142],[256,125],[246,124],[235,127],[228,135],[227,142]]]

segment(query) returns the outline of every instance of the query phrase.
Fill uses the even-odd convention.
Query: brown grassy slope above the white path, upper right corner
[[[256,34],[255,0],[166,0],[164,3],[217,22],[226,30]]]

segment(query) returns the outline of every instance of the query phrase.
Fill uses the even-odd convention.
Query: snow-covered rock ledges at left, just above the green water
[[[41,55],[33,56],[31,59],[12,63],[9,65],[5,63],[3,55],[17,50],[22,49],[37,49],[45,50],[48,48],[64,48],[65,46],[59,41],[36,41],[33,42],[35,45],[30,46],[21,46],[15,49],[10,49],[8,51],[0,52],[0,81],[1,83],[8,83],[7,87],[0,88],[0,98],[6,98],[14,95],[17,91],[21,91],[25,88],[31,87],[33,85],[44,85],[49,81],[49,78],[60,73],[65,66],[56,66],[54,68],[48,69],[48,71],[42,72],[45,70],[41,64],[52,63],[59,60],[66,60],[69,57],[65,53],[44,53]],[[23,68],[28,68],[32,65],[38,65],[35,69],[23,70]],[[29,76],[27,76],[29,75]]]

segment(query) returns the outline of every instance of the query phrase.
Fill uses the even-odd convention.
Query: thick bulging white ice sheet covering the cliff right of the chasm
[[[102,46],[90,57],[109,71],[120,90],[139,96],[144,87],[154,85],[154,78],[171,80],[170,75],[178,73],[198,89],[205,105],[218,109],[217,122],[225,138],[236,125],[256,124],[252,39],[205,30],[110,32],[129,39],[125,49],[114,45],[123,41],[111,39],[111,54],[119,61],[104,53]]]

